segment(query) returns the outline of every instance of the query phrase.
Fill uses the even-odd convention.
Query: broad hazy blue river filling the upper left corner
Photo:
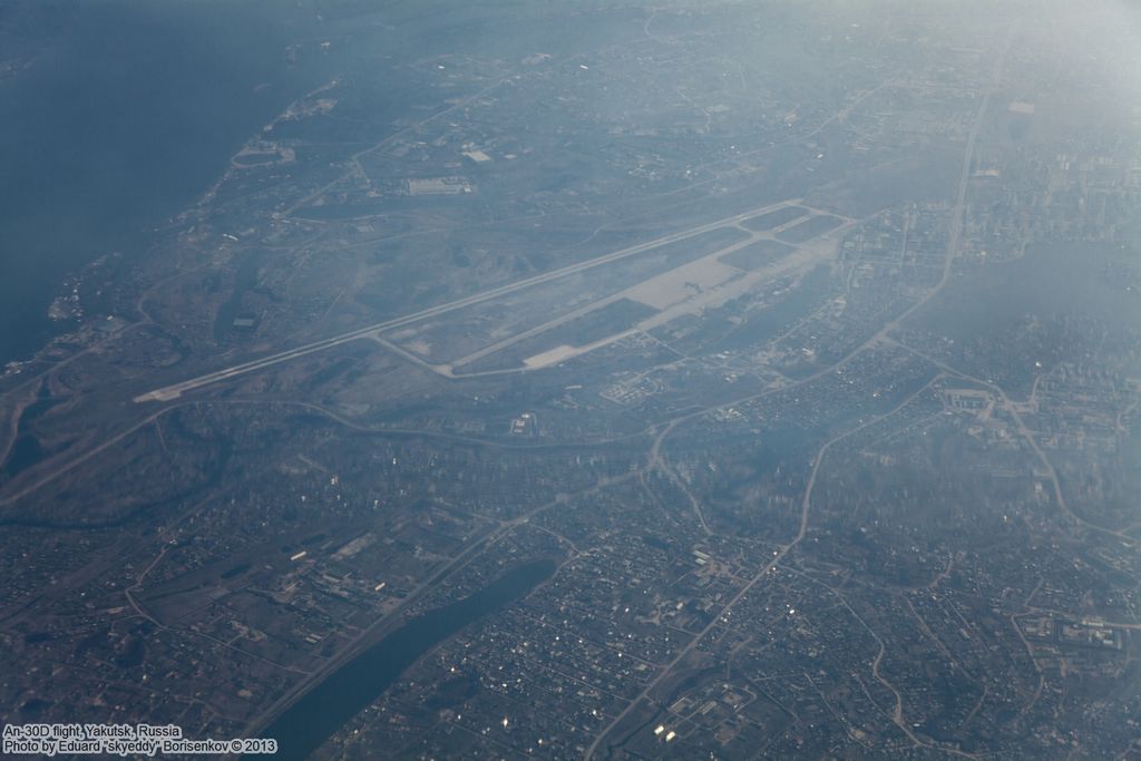
[[[278,0],[87,0],[24,33],[30,65],[0,78],[0,367],[72,327],[47,316],[68,274],[145,252],[146,230],[333,71],[286,59],[322,31]]]

